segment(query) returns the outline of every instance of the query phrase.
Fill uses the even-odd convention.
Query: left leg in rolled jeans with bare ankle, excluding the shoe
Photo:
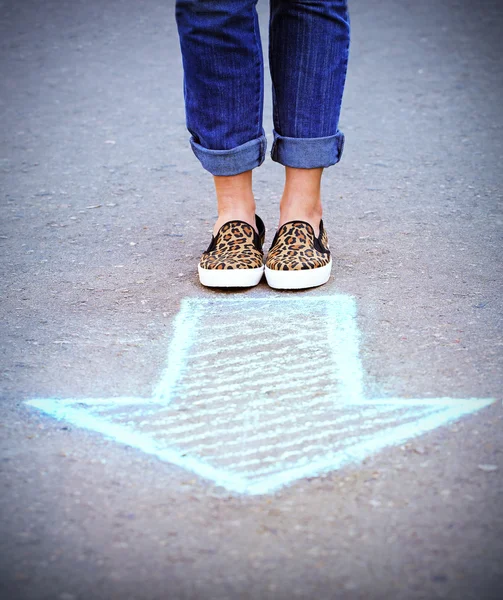
[[[214,175],[216,233],[241,219],[255,226],[251,170],[265,156],[263,59],[257,0],[177,0],[187,127]]]

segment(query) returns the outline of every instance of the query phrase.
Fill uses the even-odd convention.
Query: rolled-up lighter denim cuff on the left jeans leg
[[[260,166],[267,149],[265,134],[230,150],[210,150],[192,137],[190,145],[203,168],[212,175],[238,175]]]

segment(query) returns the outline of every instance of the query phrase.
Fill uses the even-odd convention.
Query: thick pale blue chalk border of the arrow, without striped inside
[[[422,417],[413,423],[406,423],[380,432],[379,437],[364,440],[349,446],[344,450],[335,452],[327,451],[322,457],[309,460],[308,464],[283,468],[278,473],[260,478],[258,481],[249,481],[246,476],[215,467],[203,458],[190,456],[185,451],[176,448],[159,447],[159,445],[145,433],[135,432],[126,425],[113,423],[105,416],[93,416],[84,407],[89,406],[129,406],[129,405],[159,405],[166,407],[172,404],[174,390],[177,382],[184,374],[190,349],[194,342],[195,332],[204,308],[215,304],[244,304],[248,302],[275,303],[301,301],[303,306],[308,304],[327,303],[332,310],[327,310],[329,324],[328,343],[332,351],[332,359],[337,365],[340,377],[340,386],[344,390],[344,407],[351,406],[435,406],[438,411]],[[335,335],[337,332],[337,336]],[[342,340],[342,341],[341,341]],[[360,333],[356,326],[356,303],[351,296],[334,294],[332,296],[314,296],[292,299],[289,296],[273,296],[269,298],[226,298],[213,300],[206,298],[185,298],[182,300],[180,310],[173,323],[173,335],[169,344],[168,361],[161,373],[159,382],[154,387],[151,398],[132,396],[116,398],[87,398],[87,399],[55,399],[36,398],[25,401],[26,404],[48,413],[58,420],[65,420],[76,424],[80,428],[101,433],[106,438],[124,443],[154,455],[159,459],[191,471],[204,479],[213,481],[229,491],[240,494],[268,494],[285,485],[305,477],[315,477],[322,473],[338,470],[349,464],[361,463],[369,456],[386,447],[396,446],[407,440],[424,435],[428,431],[445,426],[456,421],[462,416],[476,412],[494,403],[492,398],[374,398],[367,399],[363,394],[364,370],[359,356]],[[347,351],[351,348],[351,351]],[[344,351],[345,350],[345,351]],[[351,374],[348,376],[348,373]],[[336,402],[336,397],[327,402],[333,402],[334,407],[341,406]],[[83,405],[75,408],[75,405]],[[388,433],[386,433],[388,432]],[[297,461],[297,464],[299,461]]]

